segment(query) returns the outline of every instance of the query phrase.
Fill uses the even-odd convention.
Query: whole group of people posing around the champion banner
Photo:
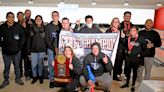
[[[43,84],[43,62],[47,54],[49,68],[49,88],[54,88],[54,68],[53,61],[58,55],[59,34],[61,31],[70,31],[75,33],[103,33],[100,28],[93,24],[93,17],[87,15],[85,23],[81,26],[80,20],[76,21],[75,28],[70,27],[68,18],[59,21],[59,13],[53,11],[52,21],[44,25],[41,15],[37,15],[35,20],[31,18],[29,9],[25,12],[18,12],[18,22],[15,22],[15,16],[12,12],[6,14],[6,22],[0,25],[0,46],[2,47],[2,56],[4,61],[4,81],[0,89],[9,84],[9,72],[11,62],[15,69],[15,82],[24,85],[21,77],[24,75],[26,80],[32,78],[31,84],[38,80]],[[74,55],[73,49],[66,46],[64,56],[70,60],[69,68],[71,70],[72,82],[65,85],[64,90],[72,92],[81,84],[85,89],[88,86],[93,87],[101,84],[105,92],[109,92],[112,80],[121,81],[119,76],[124,73],[126,83],[121,88],[129,87],[131,70],[133,69],[132,88],[135,90],[136,80],[142,81],[143,70],[138,68],[145,67],[144,79],[150,79],[155,48],[161,46],[159,34],[153,30],[153,21],[146,20],[145,29],[139,30],[131,22],[131,12],[124,13],[124,21],[120,23],[119,18],[113,18],[111,25],[105,33],[120,33],[120,39],[115,59],[115,64],[108,55],[101,52],[101,46],[98,42],[91,45],[91,53],[86,55],[83,61],[82,70],[79,59]],[[22,65],[24,61],[24,65]],[[122,69],[123,62],[125,67]],[[87,65],[91,67],[95,76],[96,83],[89,79]],[[24,68],[22,67],[24,66]],[[23,74],[24,69],[24,74]],[[111,77],[113,69],[113,78]],[[123,72],[124,70],[124,72]]]

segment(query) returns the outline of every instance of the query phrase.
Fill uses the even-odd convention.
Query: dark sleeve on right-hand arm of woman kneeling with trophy
[[[73,64],[73,73],[75,73],[76,75],[81,75],[82,71],[81,71],[81,68],[80,68],[79,59],[74,57],[72,64]]]

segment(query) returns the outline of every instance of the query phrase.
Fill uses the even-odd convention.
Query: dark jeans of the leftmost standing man
[[[13,61],[14,65],[14,72],[15,72],[15,80],[20,79],[20,68],[19,68],[19,62],[20,62],[20,55],[21,51],[19,51],[17,54],[14,55],[6,55],[2,53],[3,55],[3,61],[4,61],[4,79],[9,79],[9,73],[10,73],[10,66],[11,62]]]

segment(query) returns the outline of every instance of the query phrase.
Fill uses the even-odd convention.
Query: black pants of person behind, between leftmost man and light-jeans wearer
[[[32,77],[32,70],[31,70],[31,61],[29,60],[28,55],[24,55],[22,53],[20,59],[20,75],[23,76],[23,61],[24,61],[24,75],[25,77]]]

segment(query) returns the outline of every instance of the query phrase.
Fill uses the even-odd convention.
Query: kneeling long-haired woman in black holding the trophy
[[[64,92],[73,92],[79,85],[79,77],[82,73],[80,61],[74,55],[73,49],[70,46],[64,48],[64,56],[69,60],[70,77],[72,80],[69,83],[66,83],[62,90],[64,90]]]

